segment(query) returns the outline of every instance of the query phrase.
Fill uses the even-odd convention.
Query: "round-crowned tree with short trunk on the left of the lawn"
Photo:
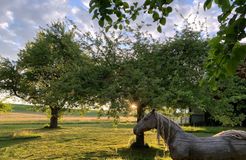
[[[89,65],[89,58],[75,40],[75,28],[69,29],[63,22],[52,23],[42,28],[18,56],[16,63],[8,59],[1,62],[1,89],[49,109],[50,128],[57,128],[62,111],[79,106],[69,76]]]

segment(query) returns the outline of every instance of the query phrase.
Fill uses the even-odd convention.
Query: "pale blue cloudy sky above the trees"
[[[199,3],[201,4],[198,9]],[[212,9],[204,11],[203,3],[204,0],[174,0],[173,12],[162,28],[163,33],[158,33],[155,25],[146,26],[143,30],[155,38],[170,37],[175,33],[175,25],[178,26],[176,29],[180,30],[184,24],[179,15],[181,13],[185,18],[189,17],[190,22],[195,19],[195,30],[200,29],[198,23],[206,22],[203,29],[207,28],[208,33],[213,36],[219,28],[217,15],[220,10],[212,6]],[[92,20],[88,9],[89,0],[0,0],[0,56],[17,60],[19,50],[23,49],[28,41],[33,40],[40,27],[45,27],[52,21],[63,20],[65,17],[72,19],[83,32],[97,31],[98,23]],[[199,15],[195,18],[197,11]],[[137,23],[140,21],[149,24],[153,22],[151,16],[146,15],[140,15]]]

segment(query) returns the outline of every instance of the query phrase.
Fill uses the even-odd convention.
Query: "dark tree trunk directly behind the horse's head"
[[[144,105],[139,104],[137,106],[137,122],[144,117]],[[144,147],[144,132],[141,135],[136,135],[136,147]]]

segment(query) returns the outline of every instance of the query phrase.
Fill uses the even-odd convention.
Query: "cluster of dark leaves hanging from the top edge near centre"
[[[89,12],[93,12],[92,19],[98,19],[98,24],[101,27],[105,26],[106,31],[111,27],[122,29],[123,24],[130,24],[130,21],[136,20],[140,14],[147,13],[158,24],[157,30],[161,32],[161,26],[166,24],[166,17],[172,12],[172,1],[145,0],[139,5],[139,2],[122,0],[91,0]]]

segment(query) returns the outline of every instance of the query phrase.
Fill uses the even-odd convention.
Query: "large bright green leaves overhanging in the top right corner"
[[[236,69],[245,60],[246,45],[239,42],[246,35],[246,1],[215,0],[214,2],[222,9],[221,15],[218,16],[220,31],[210,41],[211,49],[206,63],[205,80],[216,87],[218,78],[235,74]],[[209,9],[212,3],[213,0],[206,0],[204,9]]]

